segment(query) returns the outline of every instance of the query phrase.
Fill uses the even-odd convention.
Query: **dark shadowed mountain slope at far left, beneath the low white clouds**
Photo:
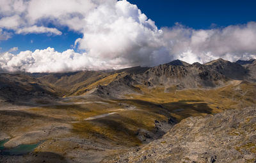
[[[33,98],[63,96],[65,92],[51,83],[40,81],[26,74],[0,74],[0,98],[17,103]]]

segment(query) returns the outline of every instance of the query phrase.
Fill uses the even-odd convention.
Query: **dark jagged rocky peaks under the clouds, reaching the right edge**
[[[256,81],[256,61],[250,60],[247,67],[223,59],[212,60],[206,64],[195,62],[188,64],[181,60],[173,60],[133,73],[132,78],[138,83],[154,86],[177,86],[177,89],[211,88],[223,86],[227,81]]]

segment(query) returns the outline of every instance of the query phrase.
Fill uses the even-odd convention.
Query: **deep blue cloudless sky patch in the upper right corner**
[[[256,1],[248,0],[130,0],[158,27],[180,22],[194,29],[246,24],[256,20]]]

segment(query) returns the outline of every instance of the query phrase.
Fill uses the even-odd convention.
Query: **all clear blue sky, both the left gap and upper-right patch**
[[[175,22],[179,22],[193,29],[211,29],[246,24],[256,20],[256,1],[130,0],[129,2],[136,4],[148,18],[156,22],[159,28],[172,27]],[[44,49],[49,46],[63,52],[72,48],[77,38],[83,37],[81,32],[68,30],[68,27],[61,27],[59,30],[63,33],[60,36],[13,34],[12,38],[0,41],[1,52],[6,52],[13,46],[19,48],[15,53]]]

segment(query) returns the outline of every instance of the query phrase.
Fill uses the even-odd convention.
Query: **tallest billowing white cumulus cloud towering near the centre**
[[[155,55],[168,54],[161,42],[163,31],[127,1],[102,4],[91,11],[85,18],[83,34],[77,39],[79,48],[114,65],[145,66],[156,62]],[[161,57],[158,61],[164,62]]]

